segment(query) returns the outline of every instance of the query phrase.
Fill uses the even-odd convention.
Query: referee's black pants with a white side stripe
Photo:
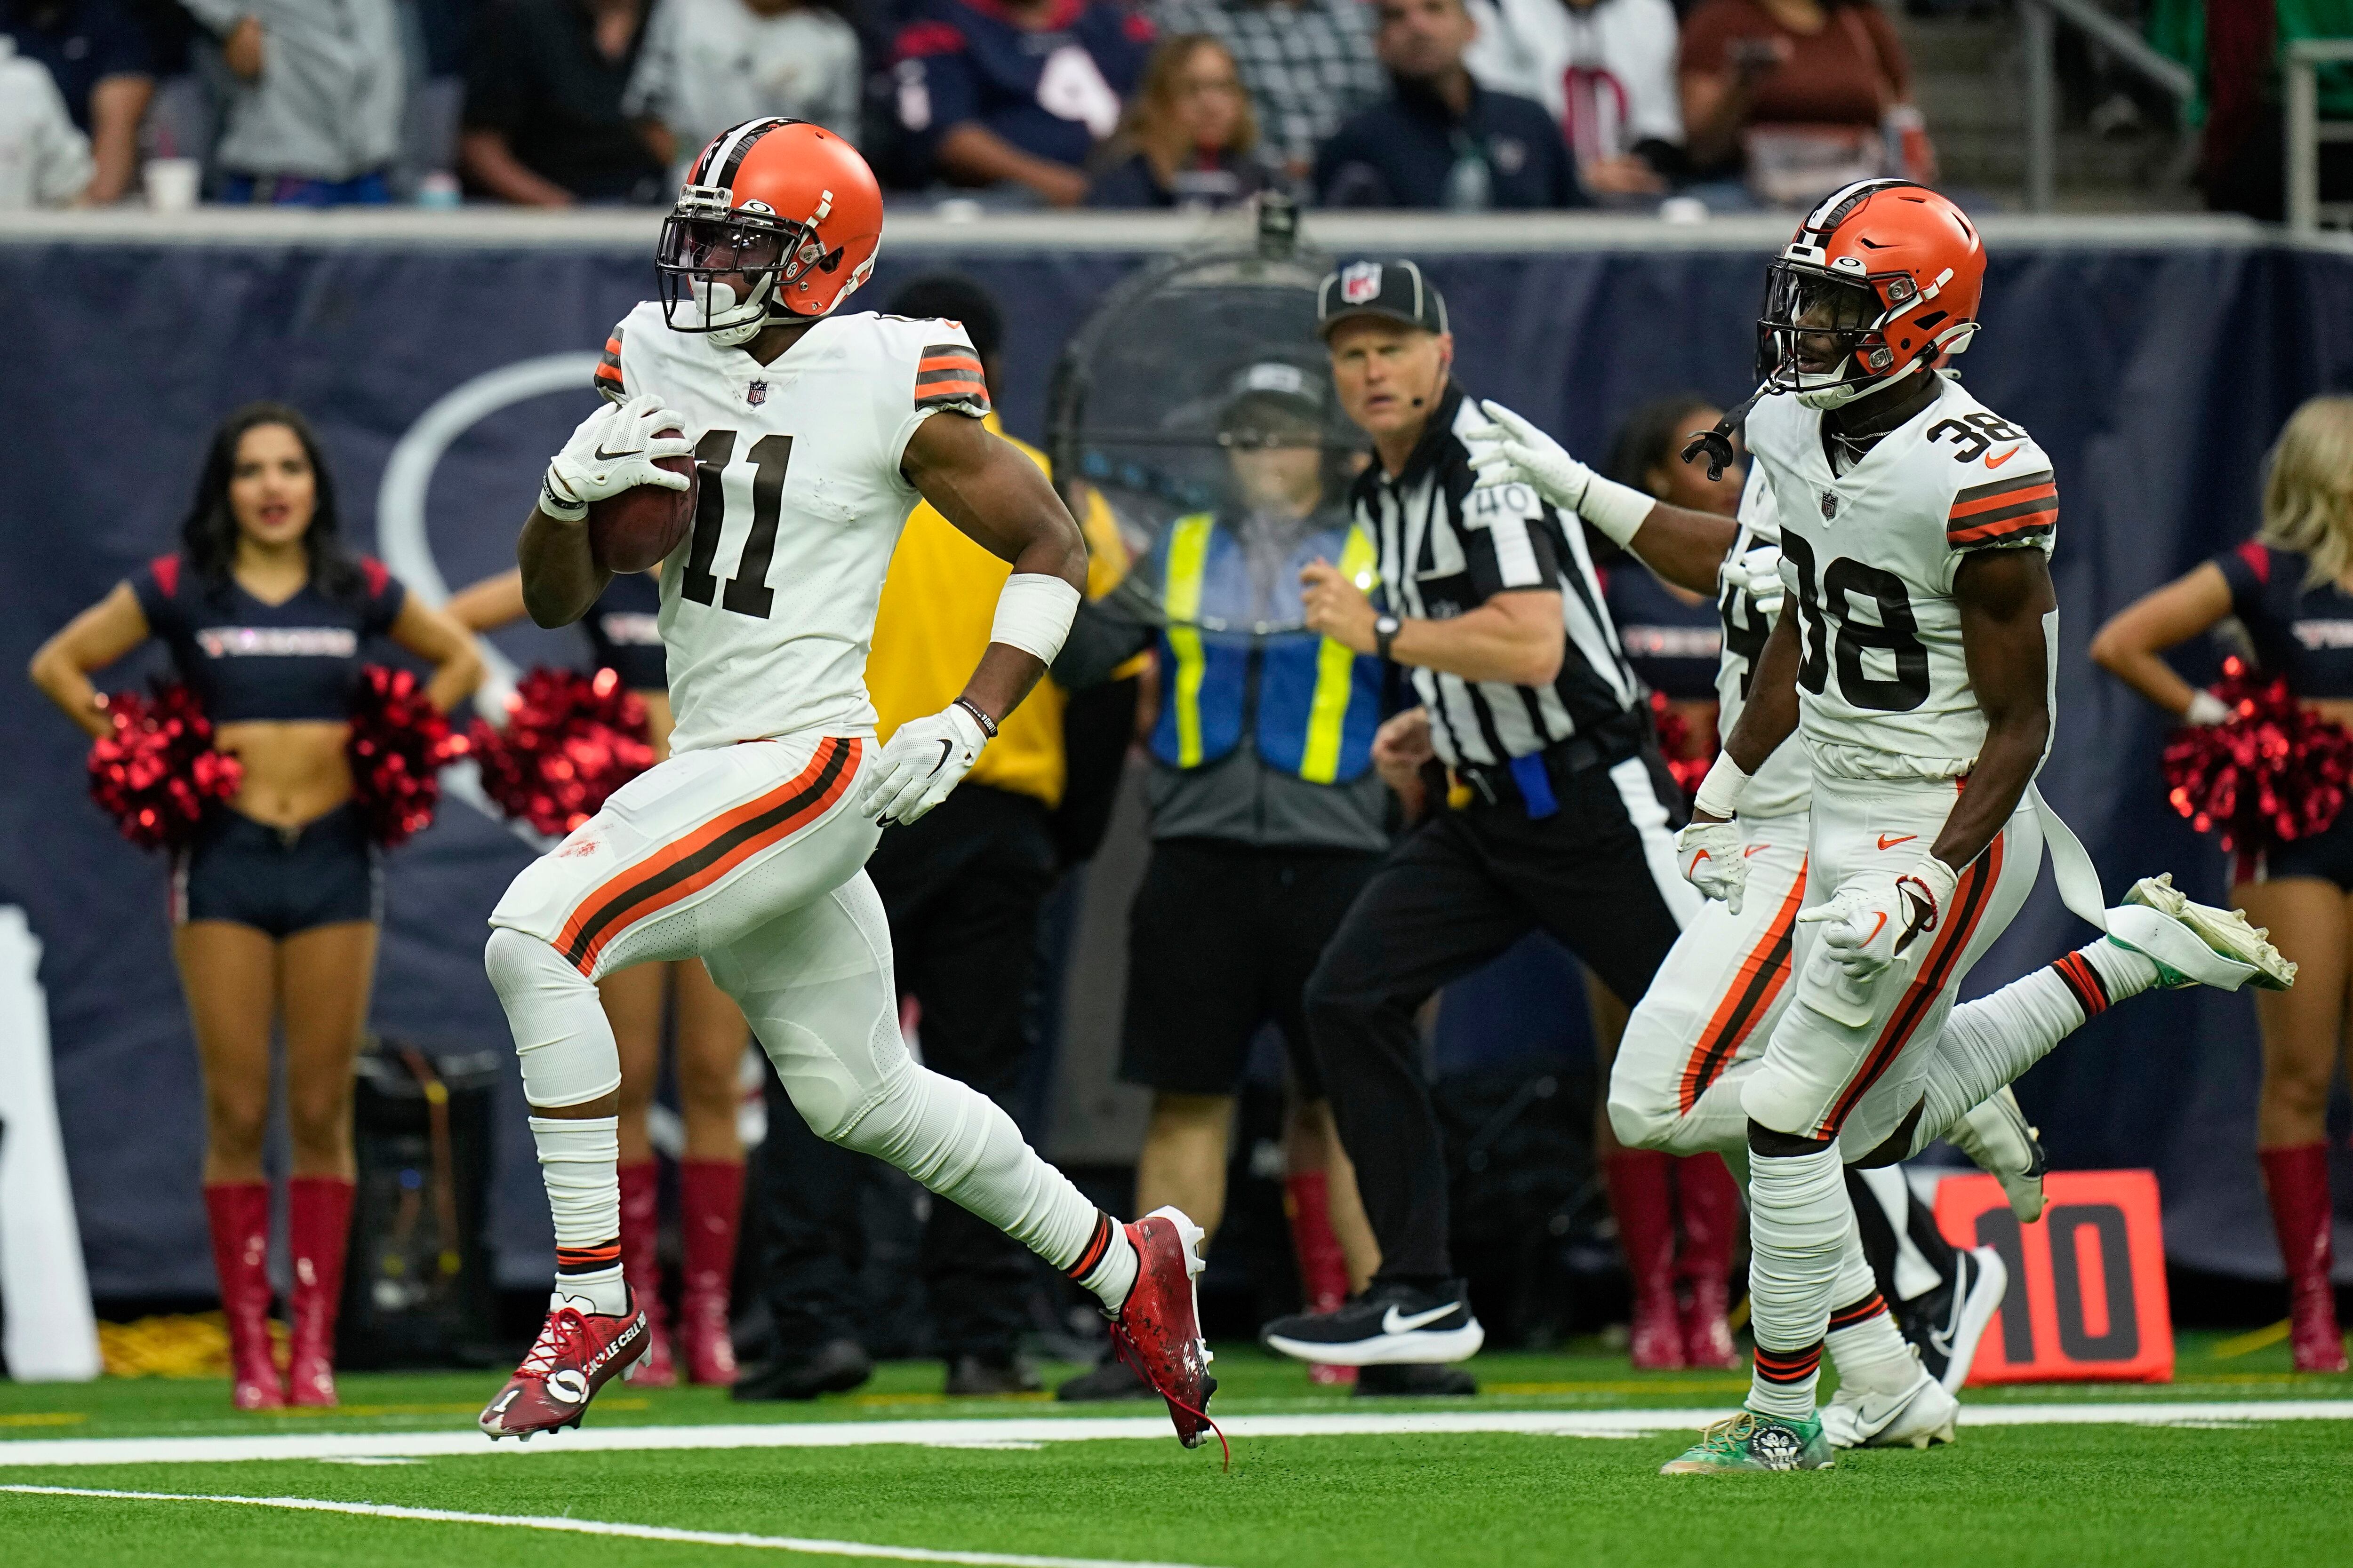
[[[1529,931],[1548,931],[1633,1004],[1680,924],[1645,853],[1661,806],[1680,813],[1654,757],[1553,780],[1560,809],[1529,820],[1518,799],[1442,811],[1417,827],[1351,905],[1308,980],[1308,1034],[1365,1215],[1379,1284],[1454,1279],[1447,1161],[1414,1016],[1431,994]]]

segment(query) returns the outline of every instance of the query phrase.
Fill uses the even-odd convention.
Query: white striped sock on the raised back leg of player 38
[[[2151,959],[2101,938],[1991,997],[1955,1006],[1929,1056],[1925,1110],[1913,1128],[1911,1154],[1944,1138],[2085,1020],[2155,983],[2158,966]]]

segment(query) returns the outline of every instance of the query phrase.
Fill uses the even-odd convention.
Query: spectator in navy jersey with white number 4
[[[899,122],[936,179],[1078,207],[1080,169],[1120,129],[1151,38],[1108,0],[915,0],[899,33]]]

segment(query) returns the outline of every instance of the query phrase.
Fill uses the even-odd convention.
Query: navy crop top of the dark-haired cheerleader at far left
[[[176,555],[148,562],[132,592],[214,724],[348,719],[360,651],[393,628],[407,599],[374,559],[360,562],[360,595],[348,604],[313,583],[285,604],[264,604],[235,578],[207,585]]]

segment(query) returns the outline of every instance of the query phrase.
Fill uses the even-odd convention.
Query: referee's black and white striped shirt
[[[1482,423],[1459,386],[1447,386],[1428,433],[1391,480],[1379,463],[1355,480],[1355,520],[1379,550],[1391,614],[1447,621],[1518,588],[1560,590],[1567,649],[1546,686],[1468,682],[1412,670],[1431,710],[1431,745],[1447,764],[1504,764],[1621,719],[1642,696],[1626,663],[1581,524],[1525,484],[1473,494],[1466,425]]]

